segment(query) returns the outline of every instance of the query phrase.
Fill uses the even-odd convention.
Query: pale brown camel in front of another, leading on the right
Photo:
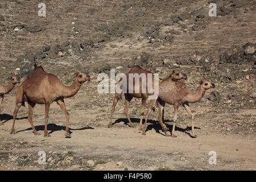
[[[176,137],[174,134],[175,131],[175,124],[177,122],[177,110],[179,109],[179,106],[182,105],[185,107],[185,110],[188,112],[189,115],[191,115],[192,119],[192,138],[196,138],[195,135],[195,114],[191,112],[189,109],[189,103],[195,103],[201,100],[203,98],[205,91],[211,88],[215,88],[215,85],[207,80],[201,80],[200,85],[196,90],[196,93],[190,93],[187,86],[182,81],[177,82],[168,82],[163,81],[159,83],[159,97],[157,100],[151,100],[150,101],[150,107],[148,108],[148,112],[145,116],[145,123],[143,125],[143,132],[142,135],[145,135],[146,127],[147,127],[147,120],[148,116],[151,113],[151,110],[153,109],[155,102],[158,102],[159,107],[159,122],[162,126],[162,129],[164,130],[164,133],[166,136],[170,136],[170,134],[167,134],[166,129],[164,128],[163,121],[163,109],[165,103],[174,105],[174,125],[172,127],[172,137]]]

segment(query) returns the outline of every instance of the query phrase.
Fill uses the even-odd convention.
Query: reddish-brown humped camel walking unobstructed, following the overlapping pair
[[[33,125],[33,110],[36,104],[45,105],[44,137],[51,137],[47,131],[48,113],[49,106],[52,104],[52,102],[56,101],[57,104],[60,105],[60,108],[63,110],[66,117],[65,137],[70,137],[68,129],[69,113],[65,107],[64,98],[75,96],[75,94],[79,91],[80,86],[86,80],[89,80],[89,76],[84,73],[76,73],[75,76],[75,81],[73,81],[72,85],[65,86],[61,83],[57,76],[44,72],[42,67],[36,68],[32,76],[26,78],[26,80],[22,82],[16,94],[16,105],[13,113],[13,126],[10,134],[15,134],[14,124],[16,114],[18,113],[19,107],[22,105],[24,106],[24,102],[27,101],[28,121],[30,122],[35,135],[39,134]]]

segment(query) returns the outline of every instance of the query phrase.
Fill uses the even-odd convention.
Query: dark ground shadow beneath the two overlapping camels
[[[131,119],[132,123],[139,123],[139,121],[140,121],[140,119],[138,119],[138,118],[130,118],[130,119]],[[143,124],[144,124],[144,121],[145,120],[143,119],[143,121],[142,121]],[[119,118],[112,125],[114,125],[115,123],[120,123],[120,122],[124,122],[125,125],[129,126],[129,121],[128,121],[127,118]],[[171,132],[173,125],[168,124],[170,122],[174,122],[174,121],[173,120],[170,121],[170,120],[166,120],[166,119],[164,120],[164,123],[166,124],[166,127],[168,128],[168,131]],[[147,124],[148,123],[151,123],[151,125],[147,125],[146,132],[154,129],[156,131],[156,133],[164,135],[164,134],[160,133],[160,130],[162,130],[162,126],[160,125],[159,121],[148,119]],[[200,127],[195,127],[195,129],[201,129],[201,128]],[[187,126],[185,129],[175,126],[175,131],[181,131],[185,134],[188,134],[189,137],[193,138],[193,136],[188,132],[188,131],[191,131],[191,130],[192,130],[191,126]]]

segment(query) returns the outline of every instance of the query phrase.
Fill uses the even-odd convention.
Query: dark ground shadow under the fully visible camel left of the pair
[[[35,126],[36,131],[44,131],[44,125],[39,125],[39,126]],[[49,134],[53,133],[54,131],[61,131],[64,130],[65,131],[66,127],[65,126],[58,126],[54,123],[50,123],[47,125],[47,130],[50,131]],[[69,134],[72,134],[73,132],[71,130],[88,130],[91,129],[93,130],[93,127],[82,127],[80,129],[72,129],[71,127],[69,127]],[[22,132],[22,131],[29,131],[32,130],[32,127],[28,128],[28,129],[24,129],[24,130],[19,130],[16,133]]]

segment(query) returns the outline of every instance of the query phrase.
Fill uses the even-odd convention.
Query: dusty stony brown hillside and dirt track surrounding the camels
[[[50,138],[43,137],[43,105],[36,105],[33,115],[36,130],[42,135],[32,133],[27,104],[20,107],[16,134],[10,135],[19,85],[6,94],[0,113],[0,169],[255,170],[255,52],[246,55],[243,45],[256,43],[256,5],[253,1],[216,1],[218,6],[232,11],[209,17],[206,1],[179,1],[175,5],[176,2],[46,1],[47,16],[40,18],[34,1],[0,1],[3,84],[9,82],[8,76],[20,74],[16,69],[22,71],[18,57],[29,49],[37,56],[35,63],[65,85],[71,84],[77,71],[88,72],[92,78],[74,97],[65,99],[71,114],[72,138],[64,138],[65,117],[56,103],[49,111]],[[185,12],[191,17],[164,23]],[[199,15],[204,18],[196,18],[202,17]],[[20,24],[23,28],[14,31]],[[41,30],[34,31],[34,24]],[[138,40],[140,35],[146,38]],[[67,41],[69,46],[65,46]],[[43,51],[46,45],[51,47],[49,51]],[[141,62],[143,52],[150,56]],[[232,57],[230,61],[221,59],[225,52]],[[45,57],[38,56],[42,54]],[[185,82],[191,92],[203,78],[214,82],[215,89],[190,105],[196,114],[197,138],[189,135],[191,118],[183,108],[178,111],[177,138],[164,135],[157,109],[150,115],[146,136],[142,136],[138,130],[140,99],[133,99],[129,109],[137,127],[129,127],[123,114],[124,98],[116,107],[113,127],[107,127],[114,94],[97,93],[97,76],[102,72],[109,75],[110,68],[120,65],[115,72],[126,73],[129,64],[140,64],[160,77],[180,69],[188,75]],[[213,96],[213,91],[220,97]],[[146,110],[147,107],[148,101]],[[164,114],[171,131],[173,106],[167,105]],[[46,164],[38,164],[39,151],[46,152]],[[216,165],[209,164],[209,151],[216,151]],[[88,160],[93,160],[95,166],[86,165]]]

